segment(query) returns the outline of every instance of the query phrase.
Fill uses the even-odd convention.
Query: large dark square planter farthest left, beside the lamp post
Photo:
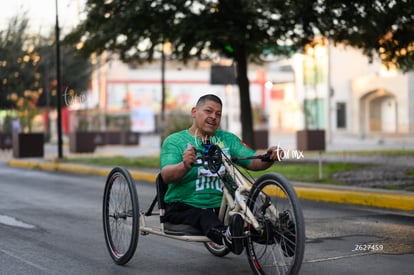
[[[44,155],[43,133],[14,133],[13,157],[43,157]]]

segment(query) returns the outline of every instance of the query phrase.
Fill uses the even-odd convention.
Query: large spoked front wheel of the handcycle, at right
[[[276,173],[256,180],[248,207],[262,226],[248,225],[246,251],[255,274],[298,274],[305,252],[305,223],[292,185]]]

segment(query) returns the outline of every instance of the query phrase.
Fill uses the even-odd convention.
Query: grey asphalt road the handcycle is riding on
[[[110,259],[101,225],[104,177],[7,167],[0,162],[0,274],[250,274],[245,256],[141,236],[125,267]],[[140,205],[153,184],[137,182]],[[301,274],[411,274],[414,215],[302,201]],[[367,249],[367,245],[382,249]]]

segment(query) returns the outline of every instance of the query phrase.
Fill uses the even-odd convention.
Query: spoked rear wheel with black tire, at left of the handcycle
[[[109,254],[116,264],[124,265],[135,253],[140,226],[138,195],[127,169],[115,167],[109,173],[102,214]]]

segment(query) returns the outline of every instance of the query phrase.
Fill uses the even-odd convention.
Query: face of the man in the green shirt
[[[193,107],[191,116],[198,131],[198,135],[214,135],[220,126],[222,107],[219,103],[208,100],[200,107]]]

